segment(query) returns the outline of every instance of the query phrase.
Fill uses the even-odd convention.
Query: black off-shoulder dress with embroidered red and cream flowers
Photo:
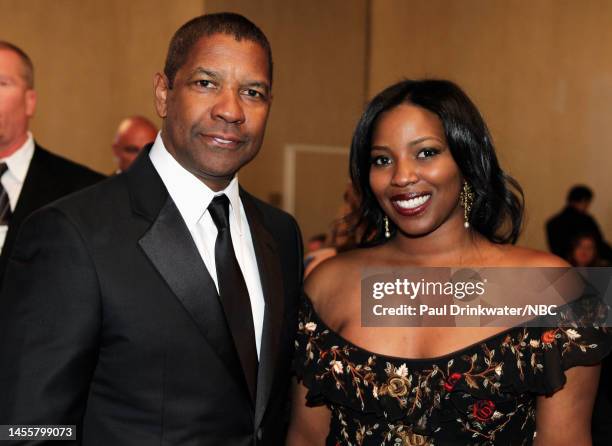
[[[332,413],[327,445],[531,445],[538,395],[608,353],[605,328],[516,327],[449,355],[379,355],[330,330],[304,298],[294,371]]]

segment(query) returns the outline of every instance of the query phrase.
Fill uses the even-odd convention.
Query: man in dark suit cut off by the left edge
[[[35,109],[31,59],[12,43],[0,41],[0,286],[24,219],[103,178],[34,142],[28,128]]]

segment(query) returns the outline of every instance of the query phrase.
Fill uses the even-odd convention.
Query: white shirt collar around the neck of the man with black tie
[[[235,225],[234,227],[242,234],[240,188],[236,176],[225,189],[219,192],[213,191],[174,159],[164,145],[161,132],[155,138],[149,158],[189,229],[192,229],[204,216],[208,205],[216,195],[225,194],[233,211],[230,213],[231,224]]]

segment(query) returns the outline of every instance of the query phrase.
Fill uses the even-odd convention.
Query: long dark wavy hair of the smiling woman
[[[350,173],[361,196],[357,210],[357,225],[365,228],[361,245],[385,240],[385,214],[370,188],[372,134],[378,117],[403,103],[427,109],[442,121],[453,159],[474,193],[471,227],[493,243],[515,243],[523,221],[520,185],[500,168],[487,125],[467,95],[450,81],[425,79],[405,80],[383,90],[367,105],[355,129]]]

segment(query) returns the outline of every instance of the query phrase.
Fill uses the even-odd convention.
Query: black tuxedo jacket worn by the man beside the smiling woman
[[[301,237],[288,214],[241,199],[265,298],[255,401],[145,150],[23,226],[0,301],[0,424],[76,424],[87,446],[283,444]]]

